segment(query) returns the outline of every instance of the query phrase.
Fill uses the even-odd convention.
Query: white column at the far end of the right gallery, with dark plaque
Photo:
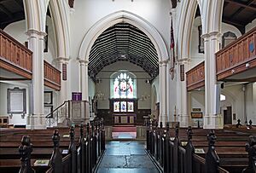
[[[180,80],[180,65],[184,66],[184,81]],[[188,59],[182,59],[179,61],[179,72],[178,72],[178,83],[179,83],[179,89],[177,93],[177,100],[179,100],[179,104],[177,107],[177,116],[180,127],[188,127],[189,125],[189,114],[188,114],[188,93],[187,93],[187,79],[186,79],[186,72],[189,69],[189,61]]]

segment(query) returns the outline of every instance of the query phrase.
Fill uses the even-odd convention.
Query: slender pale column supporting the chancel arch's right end
[[[168,61],[160,61],[160,118],[159,123],[162,122],[166,126],[167,112],[166,112],[166,66]]]

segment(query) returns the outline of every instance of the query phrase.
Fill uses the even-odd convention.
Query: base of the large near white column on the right
[[[204,116],[204,129],[223,129],[224,122],[221,114]]]

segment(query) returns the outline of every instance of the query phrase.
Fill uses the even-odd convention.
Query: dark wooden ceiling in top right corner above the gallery
[[[222,21],[245,33],[245,26],[256,18],[256,0],[224,0]]]

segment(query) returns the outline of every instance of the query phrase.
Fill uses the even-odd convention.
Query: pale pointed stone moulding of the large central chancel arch
[[[168,59],[169,55],[166,49],[166,43],[154,26],[137,14],[132,14],[131,12],[122,10],[113,14],[108,14],[90,28],[80,45],[79,60],[89,61],[90,49],[96,41],[96,38],[108,29],[108,27],[120,22],[127,22],[133,26],[137,26],[137,28],[142,30],[154,44],[159,61],[166,61]]]

